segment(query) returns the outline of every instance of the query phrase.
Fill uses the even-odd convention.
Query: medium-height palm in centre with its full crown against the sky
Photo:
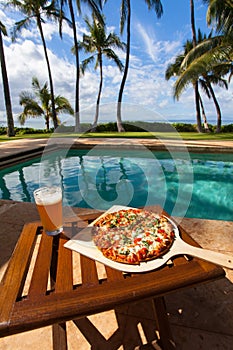
[[[93,14],[92,23],[87,17],[85,19],[85,22],[90,35],[83,35],[83,41],[80,43],[80,48],[84,49],[86,53],[92,53],[92,55],[83,60],[80,69],[84,74],[86,67],[94,60],[95,69],[98,67],[100,69],[99,92],[96,102],[95,118],[92,125],[92,130],[94,131],[97,126],[99,117],[99,105],[103,85],[103,56],[106,56],[106,58],[113,60],[119,70],[122,71],[123,65],[112,48],[119,48],[124,50],[125,44],[121,42],[120,38],[115,33],[110,33],[109,35],[106,34],[106,25],[104,18],[102,23],[100,23],[96,16]]]

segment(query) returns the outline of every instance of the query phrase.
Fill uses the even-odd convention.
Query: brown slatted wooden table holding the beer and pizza
[[[156,206],[150,209],[159,210]],[[78,253],[63,245],[99,215],[99,211],[82,211],[79,217],[67,220],[64,234],[56,237],[47,236],[39,222],[24,226],[0,284],[1,337],[53,325],[54,349],[67,349],[66,321],[153,298],[161,345],[174,348],[163,296],[224,277],[224,270],[196,258],[176,257],[172,264],[140,274],[123,274],[105,266],[105,277],[100,278],[95,261],[80,255],[77,271],[73,259]],[[183,239],[197,246],[179,228]],[[75,284],[77,273],[80,282]]]

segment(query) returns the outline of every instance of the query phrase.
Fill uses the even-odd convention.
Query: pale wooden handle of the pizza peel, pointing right
[[[176,235],[176,244],[174,245],[173,253],[191,255],[202,260],[212,262],[216,265],[221,265],[227,267],[228,269],[233,269],[233,256],[213,252],[211,250],[202,249],[194,247],[186,242],[184,242],[180,236]]]

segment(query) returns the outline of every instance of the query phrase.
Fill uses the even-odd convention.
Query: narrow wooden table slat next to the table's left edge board
[[[29,287],[29,298],[37,298],[38,295],[45,295],[47,292],[52,242],[52,237],[43,232]]]

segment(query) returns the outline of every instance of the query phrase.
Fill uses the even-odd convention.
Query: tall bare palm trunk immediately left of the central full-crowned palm
[[[75,48],[75,58],[76,58],[76,86],[75,86],[75,132],[80,132],[80,111],[79,111],[79,49],[78,49],[78,39],[75,24],[74,8],[72,0],[69,0],[70,16],[74,35],[74,48]]]

